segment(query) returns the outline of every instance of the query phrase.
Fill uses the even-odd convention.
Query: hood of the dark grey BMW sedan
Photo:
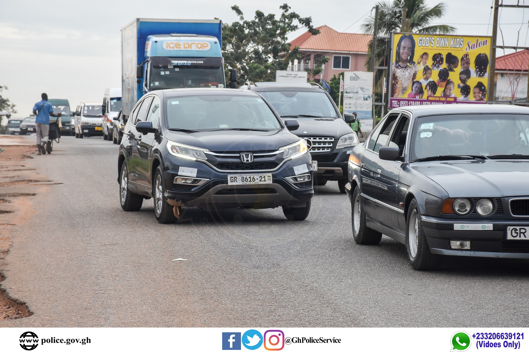
[[[429,161],[409,166],[454,198],[529,195],[529,160]]]

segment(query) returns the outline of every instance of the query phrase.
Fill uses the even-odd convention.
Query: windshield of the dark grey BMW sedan
[[[426,116],[416,126],[412,160],[440,155],[529,156],[529,115]]]

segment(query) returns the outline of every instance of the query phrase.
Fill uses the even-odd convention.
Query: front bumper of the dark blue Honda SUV
[[[167,163],[167,158],[171,162]],[[314,195],[312,185],[311,159],[308,154],[288,160],[279,169],[273,172],[253,170],[252,172],[218,172],[200,161],[193,161],[164,156],[166,167],[164,178],[166,182],[166,197],[170,204],[179,206],[207,207],[214,205],[218,208],[275,208],[278,206],[300,207],[304,206]],[[305,164],[311,180],[299,187],[287,180],[295,176],[294,166]],[[174,183],[175,178],[186,177],[180,174],[180,167],[196,169],[197,178],[207,179],[202,185],[181,185]],[[261,185],[228,185],[229,175],[255,175],[272,174],[271,184]]]

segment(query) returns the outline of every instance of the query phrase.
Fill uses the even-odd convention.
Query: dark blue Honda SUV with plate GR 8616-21
[[[235,89],[158,90],[143,96],[127,120],[118,158],[123,210],[154,198],[160,223],[180,207],[281,206],[304,220],[314,195],[312,160],[259,93]]]

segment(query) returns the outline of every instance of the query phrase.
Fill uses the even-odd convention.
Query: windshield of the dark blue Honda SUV
[[[241,96],[170,98],[167,100],[167,126],[170,129],[200,132],[281,128],[265,101],[257,97]]]

